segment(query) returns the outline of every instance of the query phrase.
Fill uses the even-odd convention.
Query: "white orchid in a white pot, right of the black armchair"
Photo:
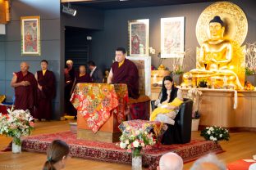
[[[203,100],[202,94],[203,92],[199,91],[197,88],[191,88],[187,93],[187,97],[193,101],[191,131],[198,131],[199,129],[201,117],[200,106]]]

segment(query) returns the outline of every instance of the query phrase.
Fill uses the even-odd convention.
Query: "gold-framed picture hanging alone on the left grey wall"
[[[21,55],[41,55],[40,16],[21,16]]]

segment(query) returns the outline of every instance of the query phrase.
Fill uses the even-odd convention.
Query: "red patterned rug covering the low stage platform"
[[[22,140],[22,150],[29,152],[46,152],[51,141],[60,139],[66,141],[71,148],[71,156],[83,159],[94,159],[112,163],[131,163],[131,154],[122,150],[114,143],[85,141],[76,139],[71,132],[57,132],[39,136],[29,136]],[[185,163],[198,159],[209,152],[222,153],[221,145],[213,141],[191,141],[183,145],[155,145],[143,153],[143,165],[155,169],[162,154],[176,152]]]

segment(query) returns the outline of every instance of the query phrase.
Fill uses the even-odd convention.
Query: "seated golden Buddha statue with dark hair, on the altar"
[[[197,52],[196,69],[183,75],[181,86],[197,86],[199,78],[207,79],[208,84],[219,87],[243,89],[240,79],[233,70],[231,61],[234,56],[234,42],[224,38],[225,26],[220,16],[214,16],[208,24],[208,40],[204,41]]]

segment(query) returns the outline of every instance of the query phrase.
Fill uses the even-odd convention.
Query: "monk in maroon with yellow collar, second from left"
[[[55,76],[53,71],[48,70],[48,61],[41,61],[41,68],[34,74],[38,82],[38,106],[36,107],[35,119],[50,120],[53,114],[53,98],[56,94]]]

